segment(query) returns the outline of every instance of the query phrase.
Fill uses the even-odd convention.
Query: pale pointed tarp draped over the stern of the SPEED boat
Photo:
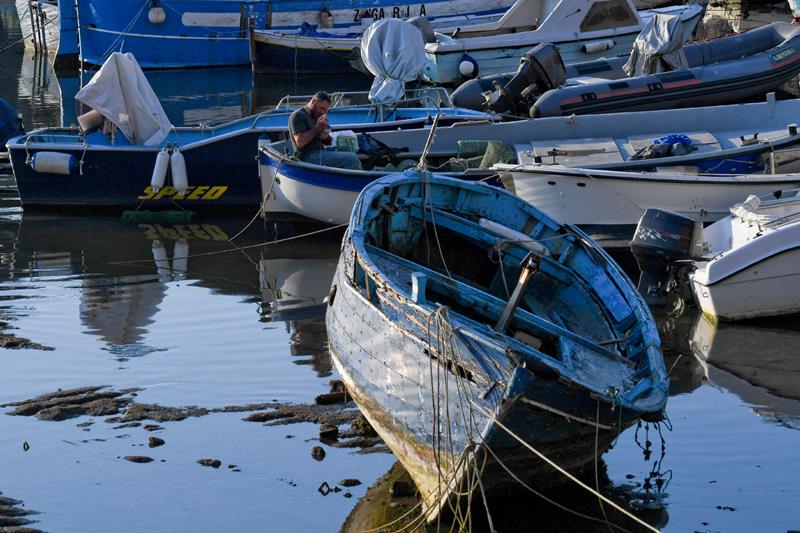
[[[131,53],[111,54],[75,99],[113,122],[132,144],[158,145],[172,127]]]

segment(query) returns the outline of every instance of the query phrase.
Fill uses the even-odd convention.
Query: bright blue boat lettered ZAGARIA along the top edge
[[[133,52],[143,68],[248,65],[249,25],[296,29],[352,26],[385,17],[466,15],[508,8],[509,0],[77,0],[81,60],[102,64]]]

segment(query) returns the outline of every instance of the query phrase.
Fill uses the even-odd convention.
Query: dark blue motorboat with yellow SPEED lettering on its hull
[[[328,117],[332,129],[356,132],[420,128],[436,114],[449,124],[489,118],[457,108],[401,105],[332,108]],[[43,128],[11,139],[8,149],[25,207],[255,208],[261,199],[254,179],[258,140],[282,138],[290,114],[276,109],[216,127],[172,128],[155,146],[133,144],[121,131]],[[184,194],[174,183],[157,191],[151,186],[161,151],[183,155],[189,185]]]

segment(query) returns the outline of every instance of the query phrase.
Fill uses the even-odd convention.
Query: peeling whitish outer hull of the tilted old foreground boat
[[[346,253],[352,253],[352,249],[345,246],[343,254]],[[478,409],[468,402],[465,404],[456,393],[459,380],[454,375],[438,375],[442,370],[430,364],[425,342],[409,336],[372,309],[348,287],[348,277],[340,263],[334,277],[336,295],[327,314],[334,365],[348,394],[411,474],[431,517],[435,517],[435,509],[452,497],[453,489],[466,483],[465,476],[476,465],[483,465],[481,482],[490,491],[519,488],[518,481],[506,468],[525,483],[539,488],[567,482],[562,474],[492,424],[481,410],[497,416],[511,431],[526,442],[536,443],[537,450],[572,473],[580,473],[593,464],[595,423],[600,424],[598,450],[602,453],[616,435],[638,420],[637,414],[611,411],[608,405],[598,404],[588,395],[564,394],[560,386],[547,390],[542,386],[546,384],[522,369],[517,370],[516,383],[510,385],[519,395],[509,398],[499,412],[494,412],[486,399],[479,401]],[[432,383],[441,391],[438,400],[434,400]],[[445,390],[453,391],[450,397]],[[476,389],[465,396],[477,399],[483,392]],[[438,453],[436,443],[429,437],[437,424],[430,416],[431,403],[437,401],[441,402],[440,411],[448,412],[453,421],[449,438],[442,436],[439,444],[442,449]],[[576,409],[580,404],[582,408]],[[573,418],[559,411],[572,413]],[[472,428],[464,427],[463,420],[467,419]],[[443,426],[441,431],[448,429]],[[470,444],[472,439],[482,441],[483,446],[470,448],[476,444]],[[463,459],[458,465],[441,463],[442,455],[458,456],[467,449],[475,454],[474,464],[469,463],[472,458]]]

